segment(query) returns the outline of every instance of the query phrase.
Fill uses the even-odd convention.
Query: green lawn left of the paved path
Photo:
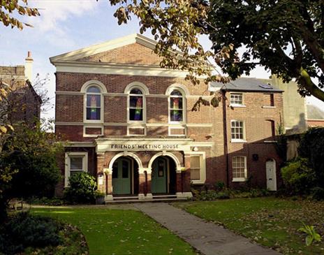
[[[192,247],[156,221],[135,210],[88,208],[34,208],[77,226],[89,245],[90,255],[196,254]]]

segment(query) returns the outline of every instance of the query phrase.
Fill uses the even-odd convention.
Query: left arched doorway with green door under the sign
[[[138,163],[131,156],[120,156],[112,164],[112,194],[138,194]]]

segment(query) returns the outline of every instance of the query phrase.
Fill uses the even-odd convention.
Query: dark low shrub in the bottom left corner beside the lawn
[[[57,221],[48,217],[33,216],[28,212],[15,214],[1,227],[0,252],[17,254],[26,247],[60,245],[60,228]]]

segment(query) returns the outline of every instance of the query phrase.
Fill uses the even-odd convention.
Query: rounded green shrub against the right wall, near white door
[[[307,194],[315,186],[316,173],[309,167],[308,159],[297,158],[281,168],[283,183],[293,194]]]

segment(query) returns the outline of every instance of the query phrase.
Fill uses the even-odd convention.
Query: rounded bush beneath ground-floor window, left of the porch
[[[77,173],[69,179],[70,187],[64,190],[69,203],[95,203],[98,196],[96,179],[89,173]]]

